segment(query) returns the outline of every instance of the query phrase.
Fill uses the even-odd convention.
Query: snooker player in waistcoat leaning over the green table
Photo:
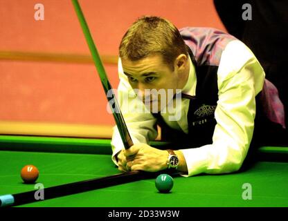
[[[265,80],[258,59],[221,30],[177,30],[166,19],[142,17],[120,42],[118,72],[120,108],[134,142],[125,150],[114,127],[112,160],[120,171],[232,173],[241,168],[251,146],[265,143],[265,127],[271,133],[285,128],[277,89]],[[172,90],[174,97],[151,99],[146,92],[152,89]],[[174,104],[179,90],[180,105],[168,113],[162,104]],[[131,91],[138,96],[128,95]],[[129,97],[128,103],[123,97]],[[150,106],[148,112],[136,111],[152,103],[158,111]],[[181,117],[171,120],[171,115]],[[172,150],[148,145],[158,135],[156,125]]]

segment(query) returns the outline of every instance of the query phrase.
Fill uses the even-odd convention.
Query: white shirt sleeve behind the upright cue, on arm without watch
[[[123,73],[120,59],[118,60],[118,74],[120,82],[116,94],[118,95],[120,110],[129,134],[134,144],[147,144],[150,140],[155,140],[158,135],[156,119],[134,93],[127,76]],[[113,130],[114,133],[111,140],[112,160],[118,165],[116,162],[116,154],[124,148],[124,145],[117,126],[114,126]]]

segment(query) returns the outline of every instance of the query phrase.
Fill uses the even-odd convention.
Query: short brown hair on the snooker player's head
[[[125,33],[120,46],[121,58],[137,61],[148,55],[160,54],[172,69],[174,59],[188,55],[179,30],[161,17],[141,17]]]

